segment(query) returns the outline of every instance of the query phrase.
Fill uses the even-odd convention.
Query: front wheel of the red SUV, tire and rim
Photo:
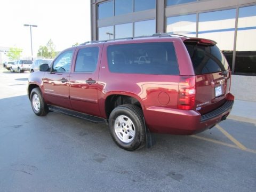
[[[34,88],[31,91],[30,103],[34,113],[38,116],[45,116],[49,111],[39,88]]]

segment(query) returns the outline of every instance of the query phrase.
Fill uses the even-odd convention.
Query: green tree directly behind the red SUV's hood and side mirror
[[[55,45],[52,39],[47,42],[46,46],[39,46],[37,57],[53,59],[56,55],[57,52],[55,51]]]

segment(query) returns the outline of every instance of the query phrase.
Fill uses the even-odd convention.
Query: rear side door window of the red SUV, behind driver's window
[[[75,72],[93,72],[98,63],[99,47],[85,47],[78,51]]]

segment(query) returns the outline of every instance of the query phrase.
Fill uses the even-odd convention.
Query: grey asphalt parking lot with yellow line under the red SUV
[[[152,148],[129,152],[105,124],[34,115],[28,75],[0,67],[0,191],[255,191],[255,124],[154,134]]]

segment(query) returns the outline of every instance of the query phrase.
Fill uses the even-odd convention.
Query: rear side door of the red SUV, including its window
[[[98,83],[99,47],[86,46],[76,50],[76,62],[70,74],[70,101],[74,110],[99,116]]]

